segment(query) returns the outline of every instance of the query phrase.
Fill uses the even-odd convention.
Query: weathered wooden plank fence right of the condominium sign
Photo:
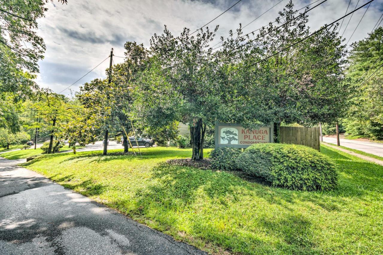
[[[319,127],[280,127],[281,142],[301,144],[321,150]]]

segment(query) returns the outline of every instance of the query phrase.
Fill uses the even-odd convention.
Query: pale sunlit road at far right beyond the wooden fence
[[[333,138],[333,137],[323,137],[323,141],[330,144],[336,144],[336,138]],[[344,146],[350,149],[361,150],[370,154],[383,157],[383,144],[378,144],[376,142],[349,140],[349,139],[339,139],[339,142],[341,146]]]

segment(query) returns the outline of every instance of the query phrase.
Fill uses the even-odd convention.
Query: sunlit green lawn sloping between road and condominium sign
[[[331,147],[321,151],[339,167],[333,191],[291,191],[230,172],[157,166],[190,156],[190,149],[142,149],[142,158],[46,155],[25,166],[214,253],[383,253],[383,167]]]

